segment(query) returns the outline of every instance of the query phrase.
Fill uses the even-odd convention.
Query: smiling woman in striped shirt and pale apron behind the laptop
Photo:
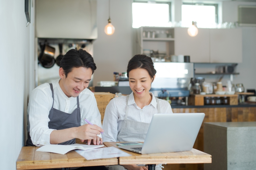
[[[127,77],[132,93],[114,98],[105,110],[102,138],[104,142],[142,142],[145,140],[152,117],[156,113],[172,113],[167,101],[149,92],[156,70],[152,59],[135,55],[127,66]],[[144,165],[115,165],[109,169],[143,170]],[[161,169],[161,165],[156,166]]]

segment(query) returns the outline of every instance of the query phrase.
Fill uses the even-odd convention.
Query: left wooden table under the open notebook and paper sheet
[[[105,147],[105,146],[104,146]],[[25,169],[46,169],[46,168],[67,168],[67,167],[86,167],[101,165],[117,165],[118,158],[86,160],[75,151],[70,151],[65,155],[36,152],[39,147],[24,146],[19,153],[16,162],[17,170]]]

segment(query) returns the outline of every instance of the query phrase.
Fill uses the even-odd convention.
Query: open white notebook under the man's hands
[[[89,150],[89,149],[96,149],[101,148],[104,145],[87,145],[87,144],[70,144],[70,145],[56,145],[56,144],[49,144],[44,145],[39,148],[37,151],[41,152],[52,152],[58,154],[66,154],[69,151],[80,149],[80,150]]]

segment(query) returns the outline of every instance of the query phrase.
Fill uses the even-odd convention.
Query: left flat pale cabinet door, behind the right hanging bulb
[[[174,29],[174,51],[176,55],[190,56],[190,62],[207,63],[210,62],[210,29],[199,28],[198,34],[191,37],[187,33],[188,28]]]

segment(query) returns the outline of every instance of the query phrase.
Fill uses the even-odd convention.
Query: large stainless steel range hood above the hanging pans
[[[36,0],[36,36],[94,40],[96,0]]]

